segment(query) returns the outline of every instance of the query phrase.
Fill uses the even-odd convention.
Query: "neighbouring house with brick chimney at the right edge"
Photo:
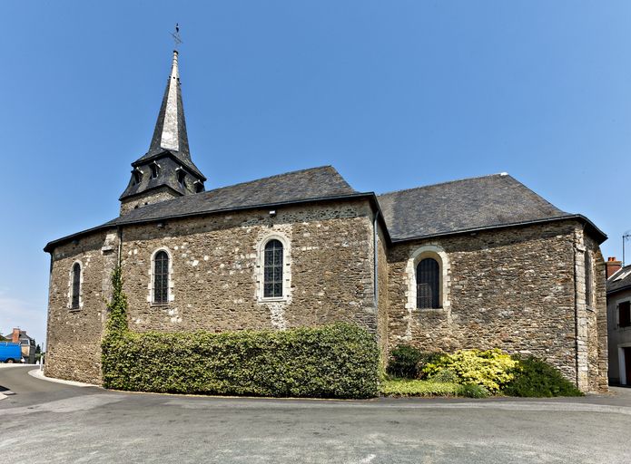
[[[631,266],[620,264],[612,257],[606,263],[609,382],[631,385]]]

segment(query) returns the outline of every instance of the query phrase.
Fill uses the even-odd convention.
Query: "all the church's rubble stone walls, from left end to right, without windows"
[[[357,200],[276,211],[273,218],[268,210],[256,210],[123,227],[130,328],[222,332],[347,321],[377,333],[383,353],[399,343],[428,351],[498,347],[547,359],[583,390],[606,389],[604,262],[577,222],[389,248],[378,229],[378,315],[369,204]],[[260,249],[270,237],[289,246],[283,268],[287,297],[261,301]],[[443,250],[449,261],[443,266],[449,304],[419,310],[408,301],[409,259],[428,245]],[[152,256],[158,249],[172,258],[168,304],[151,303]],[[586,301],[586,251],[593,264],[591,303]],[[111,297],[117,252],[116,229],[54,249],[46,375],[100,383],[105,301]],[[75,262],[82,266],[78,310],[70,308]]]

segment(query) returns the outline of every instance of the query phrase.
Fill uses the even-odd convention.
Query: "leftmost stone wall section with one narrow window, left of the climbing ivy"
[[[101,383],[101,336],[105,301],[112,296],[116,264],[115,229],[94,233],[54,249],[51,256],[45,374],[59,379]],[[82,267],[80,308],[71,309],[71,275]]]

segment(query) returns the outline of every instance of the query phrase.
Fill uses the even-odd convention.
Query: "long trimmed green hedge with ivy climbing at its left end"
[[[134,333],[120,268],[103,342],[104,387],[127,391],[370,398],[379,393],[374,336],[353,324],[286,331]]]

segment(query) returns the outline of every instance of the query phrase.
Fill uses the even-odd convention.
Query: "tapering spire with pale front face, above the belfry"
[[[186,158],[191,158],[182,105],[177,50],[173,50],[171,75],[166,84],[158,120],[155,122],[149,153],[156,154],[164,150],[179,151]]]

